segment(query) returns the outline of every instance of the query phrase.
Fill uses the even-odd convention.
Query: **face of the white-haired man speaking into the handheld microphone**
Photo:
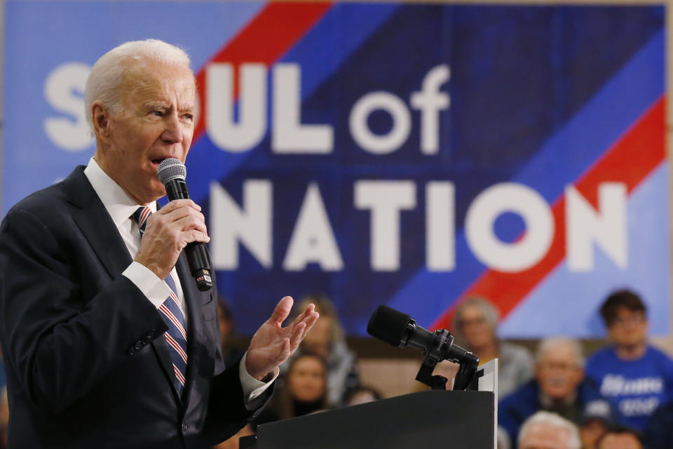
[[[184,163],[189,152],[196,86],[184,65],[149,63],[131,67],[120,89],[121,111],[107,112],[96,160],[132,199],[147,204],[165,195],[159,163],[169,157]]]

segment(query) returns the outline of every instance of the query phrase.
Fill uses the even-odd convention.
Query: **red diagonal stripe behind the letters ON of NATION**
[[[599,184],[623,182],[630,194],[665,157],[665,98],[662,96],[601,159],[587,169],[575,187],[597,208]],[[554,241],[541,262],[518,273],[487,270],[433,323],[432,328],[450,328],[457,305],[473,295],[493,300],[503,317],[510,313],[566,257],[565,208],[564,196],[552,206],[556,231]]]

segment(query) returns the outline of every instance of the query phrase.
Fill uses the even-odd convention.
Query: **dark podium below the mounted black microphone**
[[[494,391],[421,391],[261,424],[240,448],[495,449]]]

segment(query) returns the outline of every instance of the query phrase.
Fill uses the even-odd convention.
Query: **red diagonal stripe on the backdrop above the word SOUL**
[[[196,74],[200,117],[194,130],[196,142],[205,131],[205,68],[211,62],[229,62],[238,67],[243,62],[271,65],[282,57],[320,18],[332,3],[271,2],[246,25],[219,53]],[[238,75],[234,76],[234,98],[238,98]]]

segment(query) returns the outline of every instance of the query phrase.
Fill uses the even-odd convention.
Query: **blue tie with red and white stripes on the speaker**
[[[134,213],[133,217],[140,227],[140,238],[142,239],[142,234],[145,232],[145,225],[147,225],[147,218],[152,215],[151,210],[148,207],[142,206],[138,208]],[[182,313],[182,308],[179,305],[177,295],[175,292],[175,281],[173,281],[170,274],[166,276],[164,281],[170,287],[170,296],[166,298],[165,302],[159,307],[159,313],[168,326],[168,332],[164,335],[168,346],[170,347],[170,359],[173,365],[173,371],[175,372],[175,387],[180,396],[182,396],[182,390],[184,389],[184,374],[186,373],[187,368],[187,334],[184,330],[184,314]]]

